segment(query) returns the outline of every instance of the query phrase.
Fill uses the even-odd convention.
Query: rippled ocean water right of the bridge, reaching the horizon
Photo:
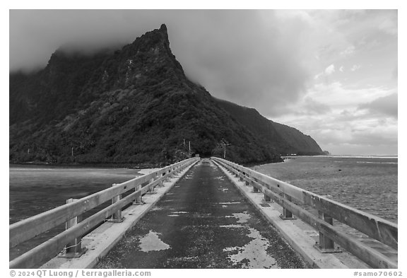
[[[396,156],[290,156],[252,168],[397,223],[397,166]]]

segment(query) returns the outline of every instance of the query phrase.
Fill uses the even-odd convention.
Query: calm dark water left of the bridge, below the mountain
[[[139,176],[126,168],[57,168],[49,166],[9,166],[9,224],[80,199]],[[102,204],[100,207],[106,207]],[[100,208],[98,207],[98,208]],[[90,210],[93,214],[97,209]],[[59,225],[10,250],[10,260],[64,231]]]

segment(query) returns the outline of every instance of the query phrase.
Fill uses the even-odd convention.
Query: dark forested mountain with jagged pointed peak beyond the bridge
[[[116,51],[59,49],[45,69],[9,78],[12,163],[163,165],[186,158],[189,142],[201,156],[223,156],[228,142],[237,163],[322,153],[296,129],[189,81],[165,25]]]

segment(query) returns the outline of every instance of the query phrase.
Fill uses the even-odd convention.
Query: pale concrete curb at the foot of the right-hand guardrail
[[[358,260],[349,253],[341,253],[341,255],[320,253],[314,244],[318,238],[318,233],[314,229],[300,221],[296,220],[283,220],[280,218],[283,209],[276,203],[268,203],[269,207],[262,207],[264,204],[264,194],[261,192],[252,192],[252,187],[245,185],[239,178],[235,178],[232,173],[229,173],[219,163],[213,161],[223,173],[228,176],[230,181],[237,187],[237,189],[251,202],[254,207],[267,219],[279,233],[288,242],[288,244],[300,255],[305,262],[313,268],[326,268],[326,269],[343,269],[343,268],[369,268],[365,263]]]

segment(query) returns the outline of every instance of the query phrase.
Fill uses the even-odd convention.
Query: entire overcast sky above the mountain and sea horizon
[[[187,76],[332,154],[397,154],[395,10],[11,10],[10,70],[167,25]]]

